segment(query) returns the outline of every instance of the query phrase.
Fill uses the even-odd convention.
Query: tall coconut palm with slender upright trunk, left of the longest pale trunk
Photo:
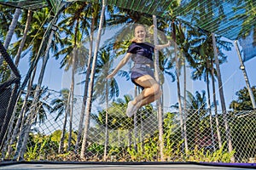
[[[70,84],[69,98],[67,105],[69,111],[69,137],[68,137],[68,147],[71,147],[72,139],[72,127],[73,127],[73,94],[74,94],[74,76],[78,71],[84,70],[85,62],[88,55],[87,48],[83,44],[83,32],[87,32],[86,26],[84,26],[84,15],[88,8],[87,3],[73,3],[69,8],[67,8],[68,17],[61,20],[59,26],[63,28],[63,32],[66,33],[67,37],[64,38],[66,48],[62,48],[56,56],[64,55],[64,59],[61,61],[61,67],[65,66],[65,71],[68,71],[72,67],[72,78]],[[72,15],[69,15],[72,14]],[[87,34],[87,33],[85,33]]]

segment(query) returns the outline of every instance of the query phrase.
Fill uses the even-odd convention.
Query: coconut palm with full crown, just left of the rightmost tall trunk
[[[216,76],[214,66],[212,65],[213,56],[213,48],[212,48],[212,34],[210,32],[199,29],[197,32],[189,31],[189,36],[194,37],[190,38],[190,53],[194,56],[194,62],[190,63],[191,67],[194,68],[192,71],[193,79],[200,79],[207,83],[207,94],[208,94],[208,109],[210,111],[210,89],[209,89],[209,77],[212,77],[212,93],[213,93],[213,103],[216,104],[216,95],[215,95],[215,86],[214,86],[214,77]],[[221,37],[217,37],[217,43],[219,49],[223,48],[224,50],[229,51],[231,49],[231,43],[225,42],[221,39]],[[218,61],[220,64],[224,63],[227,56],[219,50]],[[214,59],[215,60],[215,59]],[[218,133],[218,145],[221,147],[221,139],[220,132],[218,128],[218,113],[217,113],[217,105],[215,106],[215,120],[217,124],[217,133]],[[210,119],[212,120],[212,112],[209,112]],[[210,120],[210,121],[211,121]],[[212,131],[212,139],[213,139],[213,129]]]

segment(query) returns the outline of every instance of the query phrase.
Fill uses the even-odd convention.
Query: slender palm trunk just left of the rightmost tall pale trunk
[[[212,93],[213,93],[213,105],[214,105],[214,114],[215,114],[215,122],[216,122],[216,130],[217,130],[217,136],[218,136],[218,148],[222,147],[222,140],[219,130],[219,122],[218,122],[218,109],[217,109],[217,100],[216,100],[216,90],[215,90],[215,81],[214,81],[214,67],[213,67],[213,60],[211,60],[212,65]]]

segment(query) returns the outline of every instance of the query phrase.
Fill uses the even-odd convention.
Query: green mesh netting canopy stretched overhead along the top
[[[102,3],[99,0],[81,0],[88,3]],[[61,3],[73,3],[76,0],[60,1],[0,1],[0,3],[20,8],[37,9],[49,5],[57,12]],[[239,40],[244,48],[244,58],[252,59],[256,56],[255,48],[255,8],[253,0],[227,1],[148,1],[148,0],[108,0],[107,4],[119,8],[126,8],[142,14],[154,14],[167,20],[183,20],[191,26],[200,27],[214,32],[230,40]],[[253,40],[248,42],[247,40]]]

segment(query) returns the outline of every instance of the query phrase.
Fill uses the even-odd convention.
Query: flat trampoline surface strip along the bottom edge
[[[1,165],[0,165],[1,166]],[[256,164],[222,164],[196,162],[14,162],[2,164],[0,169],[73,169],[73,170],[242,170],[255,169]]]

